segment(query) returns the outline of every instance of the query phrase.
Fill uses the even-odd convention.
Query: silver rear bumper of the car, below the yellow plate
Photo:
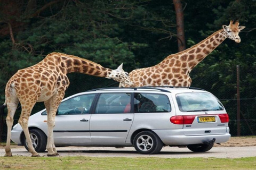
[[[183,129],[153,130],[165,145],[192,145],[216,139],[216,143],[227,142],[230,139],[229,129],[224,134],[184,135]]]

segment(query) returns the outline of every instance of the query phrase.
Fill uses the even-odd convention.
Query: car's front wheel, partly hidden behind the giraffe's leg
[[[32,130],[29,130],[29,133],[30,133],[30,138],[32,140],[33,147],[35,148],[36,152],[44,152],[47,144],[47,137],[44,134],[44,132],[39,129],[32,129]],[[28,150],[28,145],[27,145],[25,135],[23,136],[23,144],[25,148]]]

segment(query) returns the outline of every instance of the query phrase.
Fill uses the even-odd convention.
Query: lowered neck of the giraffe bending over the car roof
[[[58,69],[65,74],[77,72],[97,77],[107,77],[112,71],[84,58],[62,53],[51,53],[45,59],[53,60]]]

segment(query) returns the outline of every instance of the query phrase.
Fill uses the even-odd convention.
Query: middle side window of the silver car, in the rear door
[[[101,94],[95,109],[95,114],[131,113],[130,93]]]

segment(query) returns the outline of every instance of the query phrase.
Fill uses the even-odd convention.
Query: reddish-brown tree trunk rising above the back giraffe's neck
[[[183,8],[180,0],[173,0],[173,4],[176,13],[178,49],[181,52],[186,49]]]

